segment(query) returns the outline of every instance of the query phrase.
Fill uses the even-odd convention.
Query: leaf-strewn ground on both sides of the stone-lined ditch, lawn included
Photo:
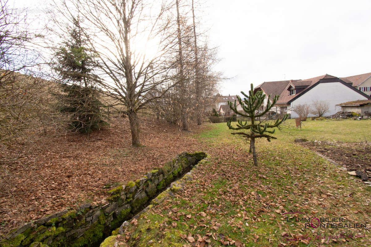
[[[157,121],[143,121],[141,127],[146,145],[141,148],[130,147],[127,120],[118,119],[89,140],[52,139],[42,151],[28,150],[13,166],[2,166],[2,231],[99,201],[106,196],[104,187],[135,179],[182,151],[206,151],[210,158],[197,168],[195,179],[133,222],[118,237],[122,244],[370,246],[370,187],[293,140],[370,141],[371,121],[309,121],[302,131],[277,132],[278,140],[257,142],[259,167],[225,123],[195,127],[196,134]],[[305,227],[290,218],[295,216],[342,217],[365,227]],[[336,236],[342,238],[331,239]]]

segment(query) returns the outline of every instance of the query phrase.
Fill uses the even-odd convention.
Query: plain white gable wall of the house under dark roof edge
[[[354,100],[366,100],[367,98],[357,93],[356,91],[350,89],[340,82],[331,83],[319,83],[317,86],[313,87],[311,90],[298,97],[298,99],[291,102],[290,107],[295,107],[299,104],[311,105],[315,100],[324,100],[329,103],[329,112],[325,116],[330,116],[338,111],[341,111],[340,106],[335,106],[336,104],[354,101]],[[289,107],[288,107],[289,109]],[[309,114],[308,117],[314,116]],[[297,118],[298,114],[291,111],[291,117]]]

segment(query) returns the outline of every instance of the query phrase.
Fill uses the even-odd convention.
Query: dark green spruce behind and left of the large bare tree
[[[93,73],[95,56],[86,46],[78,19],[73,19],[73,28],[68,40],[56,51],[54,70],[62,81],[63,93],[58,95],[59,110],[70,117],[70,127],[81,133],[90,133],[104,125],[106,115],[99,101],[95,86],[99,80]]]

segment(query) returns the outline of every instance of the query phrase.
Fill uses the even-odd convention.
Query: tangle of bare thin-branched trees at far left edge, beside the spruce
[[[52,130],[58,121],[50,109],[50,82],[33,73],[40,64],[35,39],[27,26],[26,14],[14,12],[0,0],[0,140],[1,161],[16,159],[3,153],[6,146],[23,149],[39,134]],[[18,153],[18,155],[20,152]]]

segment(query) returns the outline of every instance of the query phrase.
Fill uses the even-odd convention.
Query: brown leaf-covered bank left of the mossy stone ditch
[[[136,148],[128,119],[120,117],[89,136],[68,134],[26,147],[17,161],[0,164],[0,234],[67,207],[99,202],[109,188],[136,180],[183,151],[200,151],[191,136],[205,127],[181,131],[142,119],[144,146]]]

